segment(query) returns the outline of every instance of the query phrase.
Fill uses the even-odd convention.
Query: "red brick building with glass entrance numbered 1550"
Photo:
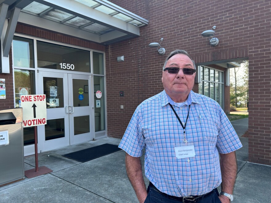
[[[240,61],[249,60],[249,161],[271,165],[270,1],[111,0],[110,2],[89,1],[94,2],[91,6],[84,4],[87,1],[73,0],[70,2],[74,9],[71,9],[64,3],[38,0],[36,2],[47,6],[45,10],[41,10],[39,13],[38,11],[35,11],[35,13],[30,9],[29,2],[27,4],[22,1],[25,2],[25,5],[15,0],[12,3],[9,2],[12,1],[1,1],[1,3],[9,5],[5,21],[7,28],[4,26],[2,37],[9,34],[5,32],[5,29],[9,29],[9,23],[11,24],[11,22],[7,22],[7,18],[10,18],[9,12],[12,12],[15,7],[21,10],[14,30],[12,46],[10,50],[8,49],[9,62],[3,57],[4,52],[6,53],[7,50],[4,48],[2,50],[2,68],[5,67],[5,64],[8,64],[9,70],[5,71],[9,73],[0,74],[0,78],[4,78],[6,82],[6,98],[0,100],[1,109],[16,107],[16,98],[18,98],[18,93],[20,94],[20,89],[17,90],[17,88],[24,88],[20,86],[24,83],[16,85],[16,81],[20,78],[16,74],[21,74],[24,71],[28,71],[27,74],[32,74],[35,79],[33,84],[26,87],[29,91],[28,94],[46,93],[44,88],[47,83],[48,88],[57,86],[61,89],[62,87],[65,92],[65,86],[69,86],[70,81],[73,79],[89,81],[84,84],[80,83],[83,89],[89,88],[84,90],[83,94],[89,99],[90,103],[87,105],[82,103],[85,100],[80,101],[81,103],[78,102],[79,105],[77,106],[69,105],[65,103],[65,97],[63,97],[64,103],[61,103],[61,98],[59,98],[59,106],[55,108],[48,101],[47,115],[51,116],[48,120],[56,120],[54,123],[53,121],[49,122],[49,125],[45,127],[39,127],[39,132],[40,134],[43,133],[43,137],[44,132],[46,137],[46,128],[48,127],[58,131],[65,128],[67,119],[73,121],[72,125],[76,122],[79,123],[79,121],[76,121],[76,116],[72,117],[72,119],[71,115],[69,115],[69,118],[63,116],[63,120],[57,120],[59,118],[50,114],[50,110],[60,110],[61,105],[63,105],[63,109],[68,106],[68,110],[71,111],[73,108],[75,111],[76,107],[78,109],[79,107],[88,106],[89,108],[86,107],[83,110],[83,112],[89,112],[88,116],[84,113],[77,116],[82,116],[81,118],[90,125],[88,129],[85,129],[84,126],[80,128],[75,126],[73,129],[69,129],[69,132],[76,131],[79,133],[83,131],[89,133],[89,135],[84,135],[85,137],[79,140],[73,139],[69,135],[69,139],[61,141],[62,144],[65,143],[63,145],[105,136],[121,138],[137,105],[163,90],[161,77],[166,56],[172,50],[183,49],[190,54],[197,65],[197,79],[193,91],[214,98],[226,113],[229,113],[228,68],[233,67],[232,64],[236,65]],[[84,7],[81,7],[81,4]],[[101,5],[106,8],[99,9]],[[88,7],[87,10],[84,10],[85,7]],[[79,10],[77,8],[80,8],[81,11],[76,14],[71,13]],[[54,9],[65,12],[64,14],[71,13],[71,15],[67,16],[67,18],[55,20],[56,17],[53,16],[53,13],[50,13],[55,11]],[[87,14],[88,11],[93,11],[95,15],[98,15],[99,19],[95,16],[89,16],[91,14]],[[103,14],[100,14],[101,12]],[[63,13],[59,16],[64,16]],[[104,13],[108,16],[105,16]],[[116,18],[117,20],[113,19],[119,13],[128,17],[125,18],[119,15],[119,18]],[[96,31],[90,29],[89,35],[85,33],[87,30],[83,30],[84,32],[81,33],[81,24],[74,26],[72,23],[67,23],[69,19],[75,18],[72,16],[87,19],[90,22],[91,18],[93,18],[93,22],[106,28],[109,27],[109,29],[106,30],[106,28],[101,27]],[[121,20],[125,23],[124,25],[123,22],[119,22]],[[55,26],[55,23],[58,23],[59,27]],[[92,24],[89,23],[88,25]],[[209,38],[202,37],[201,33],[204,30],[211,30],[214,25],[216,26],[215,37],[219,39],[219,43],[217,46],[210,46]],[[81,30],[77,32],[76,29]],[[152,42],[159,42],[161,38],[163,38],[163,41],[160,45],[166,50],[164,55],[160,55],[156,48],[148,46]],[[3,47],[5,40],[1,41]],[[30,57],[27,61],[28,65],[32,63],[31,67],[18,65],[22,62],[22,60],[17,60],[18,57],[22,57],[22,53],[16,51],[16,49],[24,46],[22,42],[33,44],[33,57]],[[70,47],[72,50],[61,50],[63,47]],[[46,51],[43,51],[52,49],[55,49],[55,51],[50,52],[50,57],[48,53],[45,54]],[[86,65],[88,62],[78,55],[78,60],[80,59],[84,66],[91,67],[90,71],[85,71],[82,68],[80,73],[84,76],[78,78],[77,72],[74,76],[72,74],[70,76],[68,70],[65,70],[65,75],[59,76],[59,78],[63,78],[62,86],[57,83],[58,80],[49,80],[52,77],[58,77],[56,75],[61,74],[59,72],[62,71],[63,73],[61,69],[63,69],[62,65],[65,62],[57,59],[50,59],[50,61],[48,57],[52,58],[63,51],[63,53],[66,53],[67,60],[74,57],[68,53],[74,54],[77,49],[82,49],[82,53],[80,52],[79,55],[84,54],[85,51],[90,52],[89,65]],[[31,53],[31,48],[26,49],[26,51]],[[31,56],[31,54],[29,55]],[[124,56],[124,61],[118,62],[116,59],[119,56]],[[61,68],[59,68],[60,66],[56,67],[56,65],[53,67],[53,62],[54,64],[57,62],[58,65],[62,63]],[[83,67],[80,62],[74,62],[74,64],[75,68]],[[46,68],[50,69],[50,71],[46,71]],[[33,73],[30,73],[31,71]],[[66,80],[68,82],[65,83]],[[39,83],[42,83],[43,86],[39,85]],[[80,85],[78,87],[81,87]],[[69,86],[69,88],[73,87]],[[102,90],[103,96],[101,99],[95,97],[95,94],[94,97],[85,94],[91,91],[95,93],[97,90]],[[123,96],[120,96],[120,92],[123,92]],[[55,93],[55,95],[61,97],[59,92]],[[97,102],[100,102],[101,107],[97,105]],[[123,108],[121,108],[122,105]],[[94,110],[91,109],[91,106],[94,106]],[[82,121],[81,118],[80,121]],[[95,129],[96,127],[97,129]],[[29,135],[31,132],[29,130]],[[73,133],[73,137],[75,137],[76,132]],[[65,134],[59,134],[61,139],[63,138],[61,136],[67,137]],[[31,139],[29,139],[28,145],[25,146],[25,151],[29,148],[29,154],[32,150]],[[56,139],[48,135],[47,140],[46,138],[40,138],[40,140],[42,143],[39,143],[39,148],[44,151],[50,150],[46,146],[46,142],[53,142]],[[55,145],[55,147],[60,146]]]

